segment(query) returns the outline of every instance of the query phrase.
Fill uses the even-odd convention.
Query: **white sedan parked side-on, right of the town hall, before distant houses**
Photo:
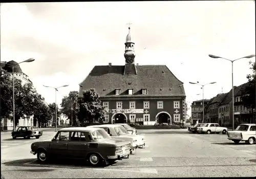
[[[220,133],[225,134],[227,132],[226,127],[221,127],[218,123],[205,123],[201,127],[197,127],[199,133]]]

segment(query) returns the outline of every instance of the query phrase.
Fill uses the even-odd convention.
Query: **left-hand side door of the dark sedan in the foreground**
[[[59,131],[49,147],[50,154],[59,158],[72,158],[72,152],[68,151],[69,139],[70,131]]]

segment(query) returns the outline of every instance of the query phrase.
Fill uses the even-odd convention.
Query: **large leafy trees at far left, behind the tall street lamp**
[[[1,69],[1,74],[1,118],[5,118],[13,112],[13,81],[11,74],[5,70]],[[14,78],[14,99],[15,119],[32,115],[39,119],[50,118],[47,107],[38,102],[41,97],[33,84],[23,85],[21,80]],[[15,124],[17,122],[15,120]]]

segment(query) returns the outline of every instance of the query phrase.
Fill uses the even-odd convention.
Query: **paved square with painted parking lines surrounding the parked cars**
[[[139,131],[141,133],[141,131]],[[159,131],[160,132],[160,131]],[[19,145],[1,147],[2,174],[6,178],[109,178],[109,177],[234,177],[255,176],[256,145],[234,144],[226,135],[199,135],[185,130],[142,133],[146,147],[129,159],[102,168],[91,168],[79,161],[58,161],[40,165],[29,153],[34,141],[52,139],[55,132],[44,132],[41,139],[13,140]],[[8,141],[2,139],[2,145]],[[11,141],[11,140],[9,140]],[[29,142],[27,142],[29,141]],[[13,143],[15,143],[13,142]],[[7,145],[7,143],[6,143]]]

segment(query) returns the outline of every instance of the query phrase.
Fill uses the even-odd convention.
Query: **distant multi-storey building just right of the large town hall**
[[[209,99],[204,100],[204,107],[208,104]],[[191,103],[191,120],[192,124],[203,122],[203,100],[193,101]]]

